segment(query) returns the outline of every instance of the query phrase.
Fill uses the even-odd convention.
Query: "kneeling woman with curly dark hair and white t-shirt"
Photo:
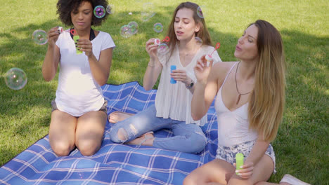
[[[58,156],[67,156],[75,147],[82,155],[91,156],[103,141],[107,102],[101,85],[108,81],[115,43],[110,34],[91,29],[107,17],[96,18],[93,15],[96,6],[106,7],[107,1],[58,1],[60,20],[73,26],[75,32],[68,29],[59,33],[58,27],[53,27],[48,33],[42,75],[51,81],[60,66],[49,127],[51,149]],[[76,43],[73,34],[79,36]],[[82,54],[77,54],[76,47]]]

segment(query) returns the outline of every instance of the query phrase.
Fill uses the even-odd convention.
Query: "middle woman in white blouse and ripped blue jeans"
[[[193,81],[196,81],[193,68],[198,58],[212,53],[214,48],[211,46],[205,20],[197,15],[198,7],[197,4],[185,2],[179,4],[174,11],[167,34],[170,39],[167,54],[157,53],[155,39],[146,42],[150,61],[144,75],[143,87],[146,90],[152,89],[161,72],[155,105],[135,116],[127,115],[131,117],[113,125],[110,130],[113,142],[155,146],[187,153],[198,153],[205,148],[207,139],[199,125],[207,122],[207,116],[198,120],[191,117]],[[195,37],[202,39],[202,43],[198,44]],[[216,62],[221,60],[217,52],[214,52],[213,58]],[[171,65],[177,67],[172,73]],[[170,77],[177,83],[170,83]],[[141,137],[147,132],[162,128],[172,129],[174,137]]]

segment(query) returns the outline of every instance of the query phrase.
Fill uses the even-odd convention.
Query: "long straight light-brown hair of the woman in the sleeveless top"
[[[285,107],[285,55],[278,30],[269,22],[257,20],[258,27],[254,90],[250,95],[248,118],[250,128],[265,141],[276,138]]]

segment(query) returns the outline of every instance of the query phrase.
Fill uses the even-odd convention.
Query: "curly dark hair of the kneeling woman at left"
[[[87,1],[91,3],[91,6],[93,6],[93,9],[96,6],[103,6],[106,8],[108,6],[108,1],[106,0],[58,0],[57,3],[57,13],[59,15],[59,19],[67,26],[72,26],[72,20],[71,20],[71,12],[77,10],[79,8],[80,4],[82,2]],[[94,26],[100,26],[104,20],[108,18],[108,13],[105,13],[105,16],[103,18],[96,18],[95,15],[93,15],[93,18],[91,20],[91,25]]]

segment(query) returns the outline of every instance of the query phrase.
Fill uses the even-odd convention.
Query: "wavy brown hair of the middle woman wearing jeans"
[[[195,32],[195,36],[198,36],[200,39],[202,39],[202,45],[212,46],[212,39],[210,39],[210,34],[209,34],[207,26],[205,24],[205,19],[200,18],[200,16],[197,13],[198,7],[199,7],[198,4],[194,4],[192,2],[187,1],[187,2],[179,4],[179,6],[177,6],[177,8],[175,9],[175,11],[172,15],[172,22],[170,22],[170,25],[169,25],[169,28],[167,31],[167,36],[169,36],[169,39],[170,39],[169,43],[167,43],[169,46],[170,53],[173,52],[174,46],[176,46],[176,43],[178,42],[176,34],[175,34],[174,22],[175,22],[176,14],[181,8],[188,8],[193,11],[193,19],[195,21],[195,24],[199,25],[199,27],[200,27],[199,32]]]

